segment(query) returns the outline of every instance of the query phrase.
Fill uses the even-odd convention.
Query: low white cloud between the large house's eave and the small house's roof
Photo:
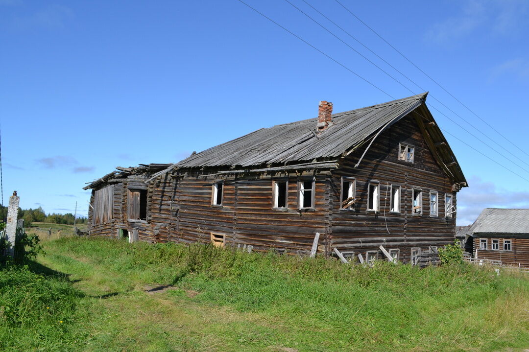
[[[458,193],[458,225],[472,224],[485,208],[529,208],[529,191],[508,191],[479,177],[469,185]]]

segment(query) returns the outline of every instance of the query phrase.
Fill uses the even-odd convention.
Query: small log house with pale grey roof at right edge
[[[484,209],[470,232],[478,260],[529,266],[529,209]]]

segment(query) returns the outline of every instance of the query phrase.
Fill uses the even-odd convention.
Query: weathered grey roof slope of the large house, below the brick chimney
[[[427,93],[333,114],[333,124],[316,134],[317,118],[261,128],[179,162],[178,168],[255,166],[339,158],[382,126],[423,104]]]

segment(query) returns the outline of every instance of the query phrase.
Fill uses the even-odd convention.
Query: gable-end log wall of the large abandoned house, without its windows
[[[414,163],[398,160],[399,142],[415,147]],[[455,214],[446,218],[444,196],[453,194],[452,183],[437,165],[431,151],[424,142],[415,118],[406,117],[380,134],[358,162],[366,146],[344,158],[338,170],[332,172],[331,249],[338,248],[345,254],[378,251],[380,245],[386,249],[399,248],[400,260],[409,262],[411,248],[444,246],[453,243],[455,234]],[[354,177],[356,183],[356,203],[354,210],[340,210],[341,177]],[[368,184],[371,180],[380,181],[380,211],[367,212]],[[389,213],[390,186],[401,187],[400,214]],[[412,189],[423,191],[423,214],[412,215]],[[430,190],[438,192],[438,212],[430,217]],[[382,253],[379,253],[379,258]]]

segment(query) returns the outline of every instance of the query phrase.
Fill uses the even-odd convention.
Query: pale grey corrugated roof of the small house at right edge
[[[474,234],[529,234],[529,209],[484,209],[471,231]]]

